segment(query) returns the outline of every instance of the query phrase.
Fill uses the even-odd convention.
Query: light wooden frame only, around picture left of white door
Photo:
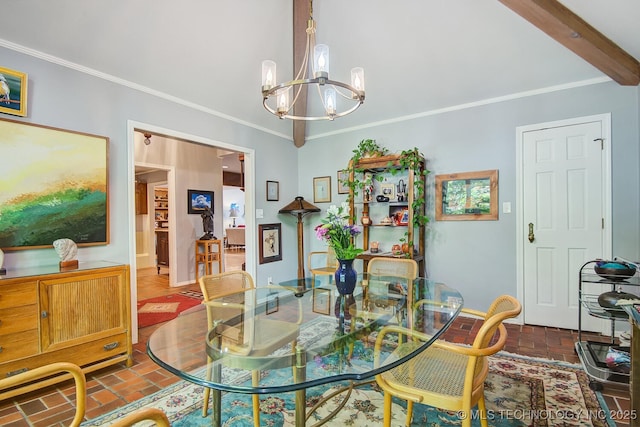
[[[443,209],[443,193],[446,195],[446,186],[451,181],[488,180],[489,187],[489,212],[474,213],[465,212],[459,214],[447,214]],[[443,188],[445,191],[443,191]],[[498,219],[498,170],[486,170],[478,172],[453,173],[448,175],[436,175],[436,221],[495,221]]]

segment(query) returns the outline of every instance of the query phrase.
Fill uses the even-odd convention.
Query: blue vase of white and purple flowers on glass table
[[[353,260],[363,251],[353,244],[353,238],[360,234],[361,230],[357,225],[349,224],[349,220],[349,205],[343,202],[340,207],[331,205],[327,209],[327,217],[315,228],[318,239],[327,242],[338,259],[335,279],[341,295],[353,293],[357,279]]]

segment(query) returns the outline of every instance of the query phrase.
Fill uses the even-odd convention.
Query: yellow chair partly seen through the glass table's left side
[[[255,287],[253,278],[246,271],[229,271],[207,275],[201,277],[199,282],[204,296],[203,303],[207,310],[207,322],[210,327],[219,320],[233,319],[242,315],[245,309],[245,295],[242,291]],[[283,288],[277,289],[282,290]],[[216,303],[212,301],[222,297],[224,297],[224,302]],[[223,339],[226,338],[224,341],[225,350],[230,354],[257,358],[268,355],[287,343],[292,343],[291,345],[295,348],[296,340],[300,333],[302,310],[300,310],[298,316],[298,322],[260,318],[259,321],[250,325],[244,323],[243,325],[247,327],[242,333],[237,333],[238,331],[235,328],[229,327],[222,332]],[[236,341],[239,336],[242,339]],[[211,378],[211,376],[211,364],[208,364],[207,378]],[[252,370],[251,380],[253,385],[258,385],[260,380],[259,367]],[[205,388],[202,408],[203,417],[207,415],[210,392],[209,388]],[[259,427],[260,398],[257,394],[252,396],[252,403],[253,422],[256,427]]]

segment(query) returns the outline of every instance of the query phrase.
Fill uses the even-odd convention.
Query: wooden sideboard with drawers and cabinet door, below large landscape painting
[[[129,288],[129,266],[102,261],[0,276],[0,388],[2,378],[54,362],[74,363],[85,373],[131,366]],[[0,399],[66,378],[0,389]]]

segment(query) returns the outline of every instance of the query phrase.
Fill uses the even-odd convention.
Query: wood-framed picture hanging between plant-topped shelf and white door
[[[437,221],[497,219],[497,169],[436,175]]]

